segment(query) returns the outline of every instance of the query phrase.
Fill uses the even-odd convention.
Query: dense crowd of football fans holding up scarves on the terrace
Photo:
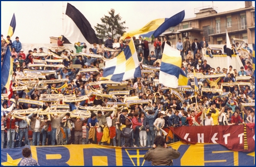
[[[2,119],[1,119],[1,148],[15,148],[23,145],[62,145],[62,144],[104,144],[114,146],[152,146],[156,135],[166,135],[164,133],[168,126],[199,126],[199,125],[238,125],[242,123],[255,123],[254,106],[247,106],[246,103],[254,103],[255,100],[255,78],[252,69],[252,50],[245,45],[245,49],[249,51],[249,57],[242,60],[243,67],[240,70],[233,69],[230,65],[229,69],[220,67],[216,70],[207,64],[204,59],[206,55],[211,57],[214,54],[223,54],[222,52],[209,51],[209,45],[203,40],[199,43],[195,39],[190,44],[189,38],[186,37],[185,42],[176,44],[176,49],[180,50],[180,55],[183,58],[181,69],[185,74],[201,72],[204,75],[221,74],[224,77],[216,78],[200,78],[198,79],[199,92],[202,88],[221,89],[222,92],[202,91],[196,96],[190,89],[180,89],[180,95],[183,98],[171,93],[170,89],[165,89],[163,84],[159,83],[159,69],[161,66],[161,57],[165,44],[170,42],[164,38],[164,42],[155,39],[155,50],[149,50],[149,42],[144,41],[139,37],[133,37],[136,52],[138,55],[141,69],[152,68],[154,73],[143,73],[141,78],[126,80],[126,88],[112,90],[129,90],[129,95],[116,95],[117,98],[109,98],[104,96],[90,95],[88,100],[81,102],[69,102],[70,111],[76,110],[79,106],[101,106],[107,107],[108,102],[124,103],[126,97],[139,97],[141,100],[148,100],[148,103],[132,104],[129,107],[117,106],[116,111],[97,111],[91,112],[90,118],[76,117],[71,118],[70,112],[63,114],[51,114],[50,118],[43,117],[35,113],[23,114],[31,120],[30,125],[26,120],[14,118],[12,112],[7,111],[13,107],[15,110],[26,110],[30,108],[47,109],[53,102],[43,102],[43,106],[29,103],[19,103],[19,98],[38,100],[41,94],[75,94],[76,97],[96,92],[99,94],[108,94],[108,84],[90,85],[93,82],[99,82],[100,77],[104,72],[105,60],[114,58],[122,50],[124,50],[129,41],[117,39],[112,40],[111,36],[105,42],[105,47],[99,44],[93,44],[93,48],[88,49],[85,43],[75,43],[76,53],[74,55],[68,50],[55,51],[48,49],[45,57],[36,57],[33,53],[43,53],[43,48],[28,50],[24,53],[22,44],[19,38],[16,37],[14,42],[9,36],[7,40],[1,41],[2,53],[1,63],[6,54],[7,49],[11,49],[11,57],[13,59],[13,87],[19,87],[26,80],[19,80],[17,77],[25,76],[24,70],[55,70],[55,74],[45,74],[45,79],[40,80],[55,80],[68,79],[65,83],[47,84],[46,89],[37,89],[37,87],[28,88],[28,90],[14,91],[12,95],[13,101],[8,103],[8,100],[2,98]],[[58,47],[63,46],[61,38],[58,39]],[[112,49],[112,50],[111,50]],[[110,51],[109,51],[110,50]],[[234,54],[239,54],[239,48],[233,48]],[[224,54],[227,52],[224,46]],[[81,54],[79,54],[81,53]],[[82,53],[99,54],[102,58],[92,58]],[[58,59],[52,57],[51,54],[58,55],[63,59],[61,63],[46,62],[47,64],[63,64],[65,67],[29,67],[35,64],[35,60]],[[64,58],[65,57],[65,58]],[[202,63],[203,62],[203,63]],[[82,68],[97,68],[99,72],[80,72],[79,68],[73,68],[73,65],[81,65]],[[142,64],[147,65],[147,68],[142,67]],[[247,85],[222,85],[222,83],[235,83],[237,76],[250,76]],[[194,82],[194,78],[189,78],[190,82]],[[21,82],[22,81],[22,82]],[[171,81],[170,81],[171,82]],[[191,85],[191,83],[190,83]],[[38,85],[39,86],[39,85]],[[191,89],[193,89],[191,85]],[[6,94],[6,88],[1,85],[2,95]],[[176,89],[175,89],[176,90]],[[179,91],[179,90],[176,90]],[[227,93],[220,96],[221,93]],[[63,103],[62,103],[63,104]],[[112,106],[112,105],[111,105]],[[131,128],[133,131],[129,137],[123,134],[124,128]],[[129,129],[128,129],[129,130]],[[178,141],[179,139],[168,138],[169,143]]]

